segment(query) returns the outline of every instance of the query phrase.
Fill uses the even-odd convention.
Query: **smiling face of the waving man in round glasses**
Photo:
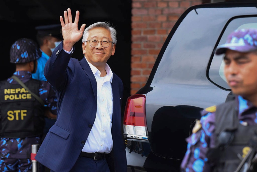
[[[87,40],[96,39],[98,40],[98,45],[92,47],[88,42],[83,42],[82,51],[89,63],[93,64],[97,69],[105,68],[107,60],[115,53],[115,44],[110,43],[108,47],[103,47],[101,45],[102,40],[112,41],[111,34],[108,30],[104,28],[93,28],[88,32]]]

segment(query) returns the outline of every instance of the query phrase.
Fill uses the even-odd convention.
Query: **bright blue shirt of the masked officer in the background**
[[[50,57],[42,51],[41,57],[37,60],[38,61],[38,67],[36,69],[36,72],[32,73],[32,78],[33,79],[38,79],[38,80],[41,80],[41,81],[47,81],[47,79],[45,79],[45,76],[44,76],[44,68],[45,68],[45,63],[47,62],[47,60],[49,58]]]

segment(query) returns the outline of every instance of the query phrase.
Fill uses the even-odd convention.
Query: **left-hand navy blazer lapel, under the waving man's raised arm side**
[[[85,57],[83,57],[80,61],[79,61],[82,69],[84,70],[84,72],[86,73],[86,75],[88,76],[90,83],[92,85],[93,91],[94,91],[94,95],[95,95],[95,100],[97,100],[97,84],[96,84],[96,78],[91,70],[91,68],[89,67],[87,60],[85,59]]]

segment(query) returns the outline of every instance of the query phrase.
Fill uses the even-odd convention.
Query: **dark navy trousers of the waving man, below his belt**
[[[51,172],[54,171],[51,170]],[[80,156],[70,172],[110,172],[110,170],[105,158],[94,160]]]

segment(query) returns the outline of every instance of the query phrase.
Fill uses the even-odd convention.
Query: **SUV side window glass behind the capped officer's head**
[[[245,18],[236,18],[231,20],[228,24],[224,34],[219,41],[219,45],[224,44],[228,35],[236,29],[247,29],[247,28],[255,28],[257,29],[257,17],[245,17]],[[224,54],[216,55],[214,54],[212,62],[209,68],[209,78],[215,84],[225,89],[230,89],[227,85],[226,78],[224,76],[224,62],[223,62]]]

